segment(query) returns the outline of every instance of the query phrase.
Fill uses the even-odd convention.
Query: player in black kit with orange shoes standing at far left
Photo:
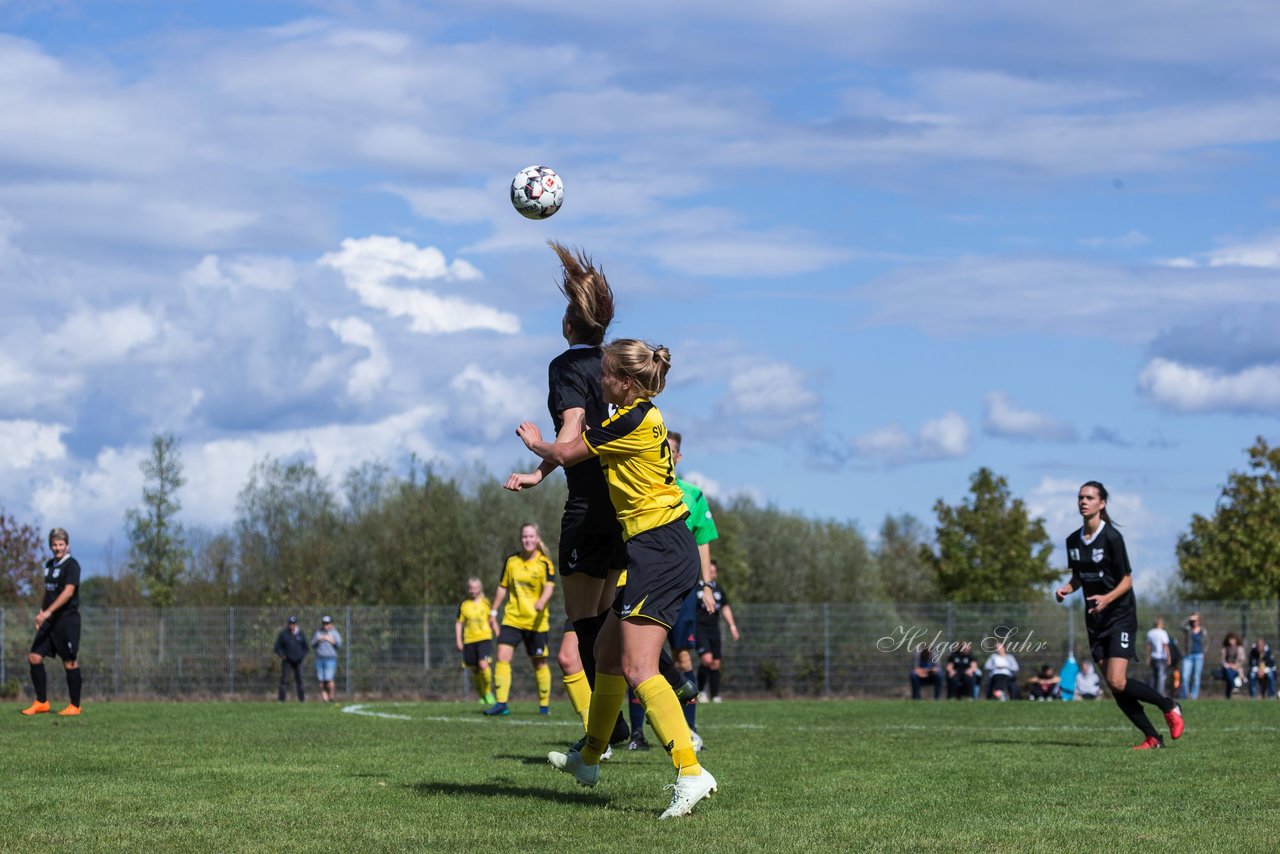
[[[49,531],[49,551],[54,557],[45,563],[45,598],[36,615],[36,639],[31,641],[31,685],[36,702],[22,709],[23,714],[49,712],[45,658],[63,659],[67,672],[67,694],[70,703],[58,714],[79,714],[79,563],[70,554],[70,536],[65,529]]]

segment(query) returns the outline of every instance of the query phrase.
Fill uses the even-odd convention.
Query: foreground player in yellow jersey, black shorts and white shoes
[[[666,347],[614,341],[604,347],[600,362],[600,387],[605,399],[618,407],[612,416],[572,442],[544,442],[532,421],[516,429],[530,451],[554,465],[599,457],[627,552],[627,586],[613,600],[595,643],[586,743],[581,750],[570,748],[548,759],[584,786],[594,786],[630,685],[677,768],[675,794],[662,818],[687,816],[717,787],[694,753],[680,700],[658,672],[667,632],[700,576],[698,545],[685,524],[689,511],[676,487],[667,425],[650,399],[662,392],[669,367]]]

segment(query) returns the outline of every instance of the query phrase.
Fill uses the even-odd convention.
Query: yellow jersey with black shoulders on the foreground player
[[[662,412],[645,398],[625,406],[604,424],[582,434],[588,451],[600,457],[609,501],[622,524],[622,539],[682,519],[684,493],[667,446]]]

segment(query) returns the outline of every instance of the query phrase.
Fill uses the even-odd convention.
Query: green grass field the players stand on
[[[1274,700],[1189,704],[1149,752],[1110,702],[727,702],[700,711],[721,791],[673,822],[658,750],[591,790],[547,764],[567,704],[13,708],[4,850],[1280,849]]]

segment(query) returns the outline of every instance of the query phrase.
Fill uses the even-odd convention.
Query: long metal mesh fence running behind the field
[[[1266,602],[1170,603],[1139,611],[1142,635],[1164,615],[1175,640],[1190,611],[1199,611],[1208,632],[1206,679],[1217,663],[1228,631],[1245,643],[1280,638],[1280,604]],[[454,649],[457,609],[428,607],[298,608],[82,608],[79,661],[84,695],[97,698],[239,698],[274,697],[279,661],[271,653],[285,617],[296,613],[303,634],[334,617],[344,645],[338,658],[340,695],[468,698],[470,680]],[[722,690],[726,695],[902,697],[913,652],[922,644],[968,640],[979,663],[1004,639],[1024,672],[1043,663],[1059,667],[1068,649],[1087,657],[1079,602],[1009,604],[736,604],[742,639],[724,627]],[[563,617],[552,620],[558,649]],[[13,697],[29,691],[27,649],[33,611],[0,608],[0,689]],[[308,691],[312,658],[305,662]],[[554,662],[553,662],[554,672]],[[50,691],[58,699],[65,684],[50,663]],[[512,698],[535,695],[524,652],[512,663]],[[562,697],[553,680],[554,695]]]

